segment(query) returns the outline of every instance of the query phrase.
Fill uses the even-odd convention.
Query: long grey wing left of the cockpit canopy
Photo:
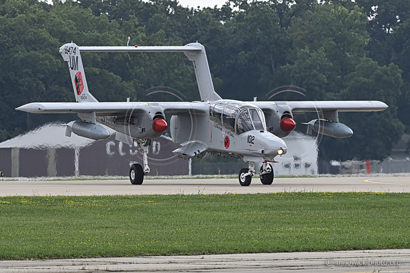
[[[207,102],[32,102],[16,108],[29,113],[91,113],[113,116],[121,113],[144,114],[150,107],[161,107],[166,115],[194,113],[206,115]]]

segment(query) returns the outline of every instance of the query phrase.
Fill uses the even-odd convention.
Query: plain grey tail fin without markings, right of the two
[[[187,51],[183,52],[189,60],[192,60],[196,81],[198,83],[199,95],[202,101],[219,100],[221,97],[216,94],[214,85],[212,83],[211,71],[209,70],[207,53],[205,48],[199,43],[192,43],[186,45],[187,47],[196,47],[200,52]]]

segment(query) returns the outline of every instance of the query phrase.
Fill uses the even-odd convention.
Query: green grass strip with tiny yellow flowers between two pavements
[[[0,259],[408,248],[408,193],[0,197]]]

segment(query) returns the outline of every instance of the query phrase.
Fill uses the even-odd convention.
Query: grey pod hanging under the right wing
[[[351,137],[353,135],[352,129],[340,122],[333,122],[325,119],[314,119],[309,121],[309,123],[304,124],[308,124],[308,131],[306,132],[308,135],[312,134],[312,130],[319,134],[336,138]]]

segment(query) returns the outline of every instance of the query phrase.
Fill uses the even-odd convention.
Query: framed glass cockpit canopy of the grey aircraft
[[[262,110],[242,101],[215,101],[209,107],[209,117],[238,135],[251,130],[266,130]]]

